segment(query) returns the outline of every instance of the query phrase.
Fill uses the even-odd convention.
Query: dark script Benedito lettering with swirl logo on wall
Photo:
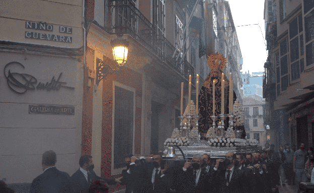
[[[18,65],[25,68],[23,64],[19,62],[10,62],[5,66],[4,73],[5,77],[7,79],[7,83],[9,88],[11,88],[13,91],[24,94],[28,90],[59,90],[61,87],[67,88],[67,89],[74,89],[74,87],[64,86],[66,84],[65,82],[61,82],[60,78],[62,73],[59,74],[59,77],[57,80],[55,80],[54,76],[52,77],[50,82],[39,82],[37,84],[37,79],[29,74],[20,74],[17,72],[11,72],[11,69],[7,70],[9,66],[12,65]],[[62,85],[63,84],[63,85]]]

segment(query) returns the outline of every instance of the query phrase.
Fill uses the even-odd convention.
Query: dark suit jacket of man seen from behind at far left
[[[33,180],[30,192],[69,192],[69,177],[68,173],[59,171],[56,167],[50,167]]]

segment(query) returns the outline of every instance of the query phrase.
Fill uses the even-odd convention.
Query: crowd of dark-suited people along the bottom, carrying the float
[[[46,151],[42,155],[43,173],[37,176],[30,188],[31,193],[70,192],[94,193],[108,192],[110,184],[123,184],[126,193],[266,193],[278,192],[278,185],[289,185],[301,181],[314,183],[314,154],[312,148],[305,151],[291,149],[289,144],[274,145],[254,153],[225,154],[224,159],[211,158],[208,154],[196,154],[183,165],[169,167],[162,153],[153,153],[145,159],[141,156],[127,155],[126,167],[122,176],[106,179],[93,171],[92,156],[83,155],[80,168],[69,176],[55,167],[56,153]],[[0,181],[0,192],[15,192],[5,182]]]

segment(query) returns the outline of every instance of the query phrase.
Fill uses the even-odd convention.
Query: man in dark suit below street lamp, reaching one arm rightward
[[[80,169],[75,171],[70,177],[70,190],[72,193],[88,193],[90,183],[97,179],[105,180],[109,185],[116,184],[115,179],[106,179],[96,175],[91,155],[82,155],[80,161]]]

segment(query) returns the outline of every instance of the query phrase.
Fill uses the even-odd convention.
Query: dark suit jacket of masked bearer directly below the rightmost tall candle
[[[217,192],[219,193],[239,193],[245,192],[245,184],[244,184],[244,172],[240,170],[238,167],[233,168],[233,173],[229,182],[229,185],[226,185],[225,178],[225,169],[218,170],[217,173]]]

